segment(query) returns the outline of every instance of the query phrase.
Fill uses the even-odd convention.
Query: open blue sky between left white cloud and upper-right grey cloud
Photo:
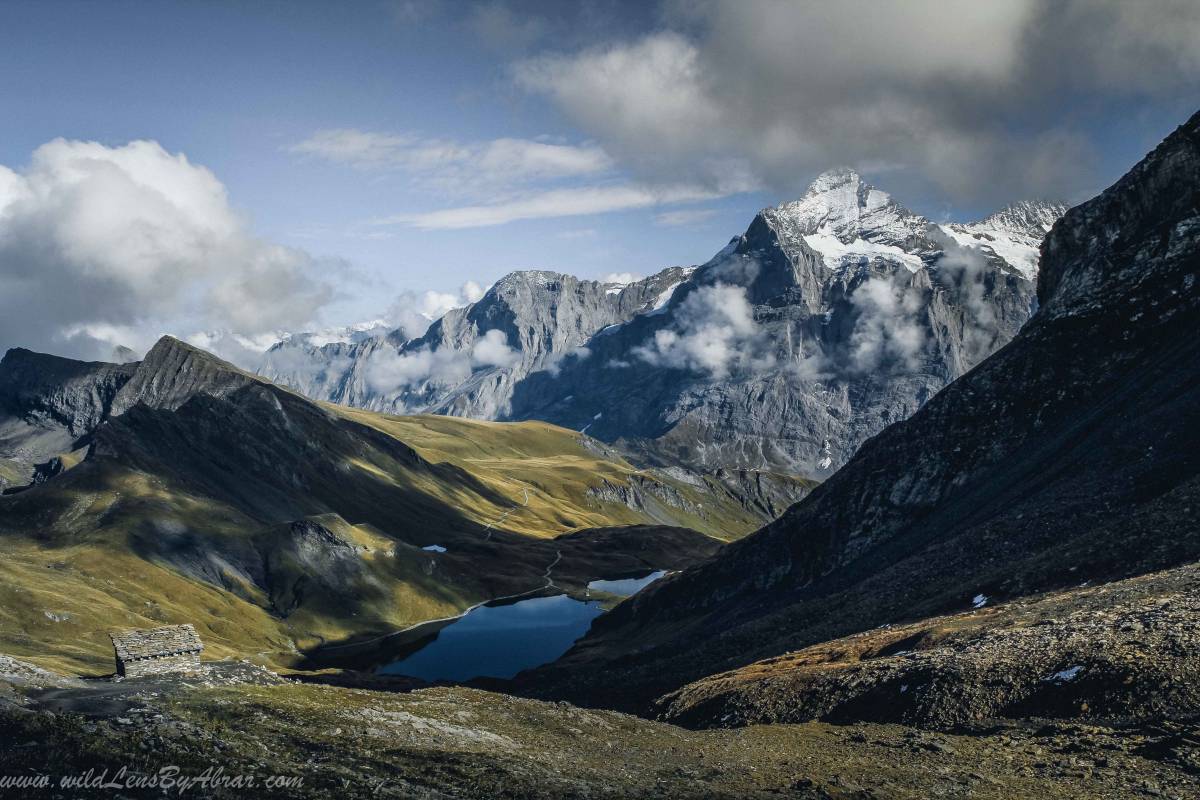
[[[594,277],[694,263],[766,201],[704,203],[715,213],[677,227],[655,224],[654,209],[448,231],[364,224],[454,198],[415,190],[398,170],[356,170],[289,146],[348,127],[462,143],[586,134],[515,90],[510,54],[482,43],[455,8],[352,6],[6,6],[0,97],[11,124],[0,163],[18,167],[55,137],[154,139],[211,169],[259,234],[346,259],[385,291],[486,284],[516,269]],[[370,296],[347,306],[330,308],[330,320],[383,311]]]

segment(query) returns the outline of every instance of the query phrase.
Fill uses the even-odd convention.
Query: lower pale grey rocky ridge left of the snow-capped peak
[[[396,330],[314,347],[298,337],[271,348],[259,373],[310,397],[374,411],[506,419],[514,385],[556,372],[596,331],[653,311],[690,271],[671,267],[628,284],[514,272],[418,338]]]

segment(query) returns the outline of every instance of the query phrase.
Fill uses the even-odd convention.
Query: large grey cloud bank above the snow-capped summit
[[[514,67],[644,180],[802,188],[830,164],[960,201],[1096,186],[1064,98],[1194,92],[1192,0],[670,4],[667,26]]]

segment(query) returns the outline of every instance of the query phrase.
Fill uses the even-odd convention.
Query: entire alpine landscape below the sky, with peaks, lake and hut
[[[1198,187],[1200,114],[1070,209],[836,169],[281,383],[10,349],[0,795],[1195,796]]]

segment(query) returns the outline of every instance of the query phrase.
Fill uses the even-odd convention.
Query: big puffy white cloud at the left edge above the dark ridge
[[[55,139],[0,166],[0,344],[108,357],[164,332],[253,337],[332,296],[304,251],[254,236],[204,167],[156,142]]]

